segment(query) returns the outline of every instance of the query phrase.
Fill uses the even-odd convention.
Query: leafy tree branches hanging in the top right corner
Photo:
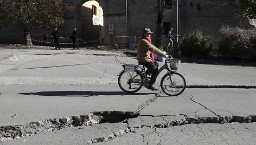
[[[213,0],[216,3],[223,3],[227,1],[229,4],[233,5],[235,8],[239,8],[239,14],[244,17],[251,19],[256,18],[256,1],[255,0]]]

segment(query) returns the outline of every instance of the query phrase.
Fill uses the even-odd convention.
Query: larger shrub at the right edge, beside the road
[[[221,58],[232,60],[256,60],[256,29],[222,27],[221,41],[217,49]]]

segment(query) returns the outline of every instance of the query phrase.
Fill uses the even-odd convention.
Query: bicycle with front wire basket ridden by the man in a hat
[[[175,58],[168,58],[165,64],[159,68],[159,73],[164,69],[168,72],[161,78],[161,89],[168,96],[178,96],[183,93],[186,87],[185,78],[176,73],[180,69],[181,61]],[[169,64],[169,65],[168,65]],[[148,87],[149,81],[145,73],[144,65],[123,64],[124,70],[118,75],[118,85],[126,93],[136,93],[142,86]]]

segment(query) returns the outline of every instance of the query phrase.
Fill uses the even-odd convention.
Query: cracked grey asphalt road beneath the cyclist
[[[182,63],[190,88],[168,97],[119,89],[121,64],[135,58],[86,49],[0,51],[0,144],[255,142],[253,67]]]

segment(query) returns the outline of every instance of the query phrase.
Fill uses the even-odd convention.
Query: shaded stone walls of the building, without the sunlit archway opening
[[[74,27],[78,28],[80,39],[88,36],[82,32],[84,22],[82,21],[83,14],[80,11],[81,6],[88,0],[66,0],[65,2],[74,6],[74,9],[65,13],[65,23],[60,28],[61,36],[69,37]],[[157,14],[155,8],[157,0],[97,0],[97,2],[104,12],[105,44],[127,44],[129,42],[128,36],[140,36],[145,27],[156,32]],[[245,28],[252,27],[250,22],[255,24],[255,21],[249,22],[247,18],[236,16],[235,13],[239,10],[231,6],[221,4],[214,8],[208,8],[208,4],[212,3],[212,0],[179,0],[178,2],[178,35],[181,37],[191,31],[200,30],[203,35],[217,38],[217,32],[223,24]],[[164,12],[164,22],[168,22],[174,27],[173,34],[176,34],[177,28],[176,5],[176,0],[173,0],[172,9],[165,9]],[[113,28],[110,29],[110,26]],[[0,35],[1,41],[23,42],[22,30],[19,28],[1,28],[0,32],[12,32],[14,30],[20,35]],[[30,32],[51,35],[52,30],[31,30]],[[164,31],[163,35],[165,36]],[[69,39],[60,39],[60,41],[71,42]]]

